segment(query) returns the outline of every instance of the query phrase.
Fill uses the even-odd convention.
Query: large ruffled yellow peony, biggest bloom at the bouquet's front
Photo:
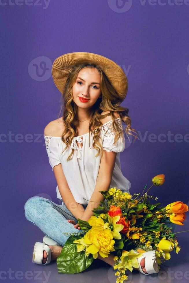
[[[77,252],[85,251],[86,256],[92,254],[93,258],[108,257],[110,252],[115,251],[113,234],[110,229],[101,226],[93,226],[83,238],[73,241],[77,243]]]

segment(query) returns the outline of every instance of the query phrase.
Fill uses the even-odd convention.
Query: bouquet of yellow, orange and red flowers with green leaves
[[[164,183],[164,174],[152,178],[152,186]],[[142,253],[155,251],[158,268],[162,261],[170,259],[170,252],[178,253],[176,234],[166,225],[169,220],[177,225],[184,225],[188,205],[176,201],[160,206],[157,197],[144,193],[133,195],[120,189],[110,188],[100,191],[106,201],[101,202],[92,212],[88,221],[78,219],[83,230],[79,235],[70,234],[60,256],[57,258],[59,273],[78,273],[87,269],[98,254],[105,258],[114,255],[116,282],[127,280],[125,271],[138,268]],[[151,204],[149,199],[155,200]],[[181,231],[185,232],[185,231]],[[136,252],[137,251],[137,252]]]

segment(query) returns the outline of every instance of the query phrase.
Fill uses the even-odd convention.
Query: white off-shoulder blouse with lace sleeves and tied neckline
[[[108,152],[117,152],[115,167],[112,175],[112,181],[110,187],[117,187],[129,193],[131,183],[121,172],[120,165],[120,152],[125,149],[125,137],[123,134],[123,126],[121,118],[116,118],[116,124],[120,129],[120,138],[114,143],[115,131],[113,129],[112,120],[106,122],[100,127],[99,135],[102,138],[102,148]],[[62,164],[62,169],[66,177],[68,186],[73,194],[76,202],[80,204],[88,204],[92,193],[95,188],[97,176],[99,172],[101,156],[95,157],[98,151],[92,147],[93,133],[90,133],[90,147],[89,147],[89,133],[81,136],[74,137],[71,146],[63,152],[66,144],[62,142],[61,137],[44,136],[47,154],[49,157],[49,163],[52,167]],[[83,137],[83,139],[81,138]],[[79,143],[77,146],[76,141]],[[80,144],[83,144],[81,147]],[[70,160],[66,160],[71,153],[71,149],[74,152]],[[103,188],[101,189],[103,190]],[[56,187],[57,197],[62,200],[58,186]],[[64,202],[62,200],[62,205]]]

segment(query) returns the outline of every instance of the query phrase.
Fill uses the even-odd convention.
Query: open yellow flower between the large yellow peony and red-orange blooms
[[[119,221],[119,219],[120,219],[119,215],[114,217],[108,215],[108,222],[106,222],[103,226],[104,229],[110,229],[113,238],[117,240],[121,239],[121,234],[119,232],[124,228],[122,224],[116,224],[116,222]]]

